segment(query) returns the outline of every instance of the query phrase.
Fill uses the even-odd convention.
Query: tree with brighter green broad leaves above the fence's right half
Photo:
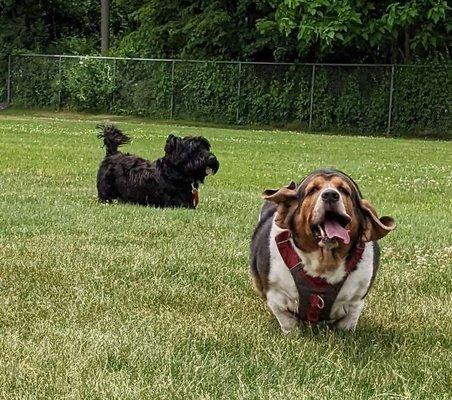
[[[296,40],[300,56],[341,55],[371,61],[409,61],[449,54],[452,30],[446,0],[269,0],[274,13],[259,23],[262,33]],[[448,15],[449,14],[449,15]]]

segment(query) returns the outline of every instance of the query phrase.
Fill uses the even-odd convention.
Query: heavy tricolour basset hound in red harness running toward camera
[[[251,275],[283,332],[300,321],[353,330],[378,268],[377,240],[395,228],[356,183],[319,170],[266,190],[251,243]]]

